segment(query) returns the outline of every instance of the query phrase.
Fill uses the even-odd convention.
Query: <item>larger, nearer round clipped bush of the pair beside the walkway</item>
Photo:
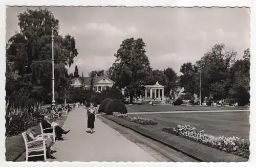
[[[127,113],[127,108],[124,106],[121,100],[114,99],[109,102],[108,105],[106,105],[106,108],[104,110],[104,113],[107,115],[113,114],[113,112],[120,112],[122,114]]]

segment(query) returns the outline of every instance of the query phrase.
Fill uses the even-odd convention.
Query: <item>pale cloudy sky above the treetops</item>
[[[28,7],[9,7],[6,41],[14,35],[17,15]],[[60,35],[70,34],[79,52],[79,73],[108,69],[122,40],[142,38],[154,69],[180,66],[199,60],[215,43],[238,52],[250,46],[250,12],[247,8],[124,8],[48,7],[60,21]]]

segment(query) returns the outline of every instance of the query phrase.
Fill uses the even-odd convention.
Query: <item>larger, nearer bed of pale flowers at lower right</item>
[[[203,130],[198,131],[196,127],[190,125],[178,125],[176,128],[163,128],[162,130],[249,159],[249,142],[240,137],[217,137],[205,134]]]

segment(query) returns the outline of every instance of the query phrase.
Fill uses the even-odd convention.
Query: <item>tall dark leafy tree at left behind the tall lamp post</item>
[[[31,98],[46,100],[51,97],[52,44],[51,30],[54,27],[54,63],[56,93],[67,86],[66,66],[71,66],[78,52],[75,39],[70,35],[58,35],[59,21],[47,9],[26,10],[18,14],[20,32],[8,40],[7,61],[13,62],[13,70],[18,71],[17,89],[11,93],[26,89]],[[9,87],[7,83],[7,87]],[[56,95],[57,95],[56,94]],[[56,96],[57,98],[58,96]]]

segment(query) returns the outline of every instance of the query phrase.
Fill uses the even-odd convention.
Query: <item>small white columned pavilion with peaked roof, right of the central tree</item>
[[[154,92],[153,92],[154,90]],[[149,91],[149,98],[164,98],[164,86],[160,85],[158,81],[155,85],[146,85],[145,86],[145,98],[148,98],[148,91]]]

